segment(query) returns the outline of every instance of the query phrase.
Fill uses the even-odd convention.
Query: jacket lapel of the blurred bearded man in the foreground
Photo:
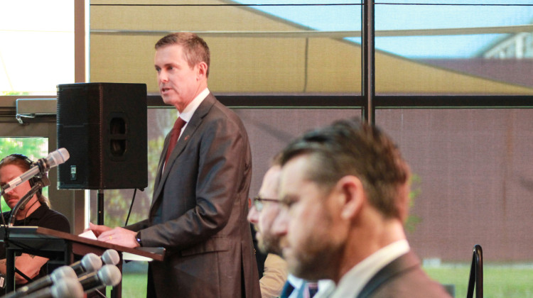
[[[389,263],[387,266],[383,267],[382,270],[374,275],[369,282],[362,288],[361,292],[357,295],[357,298],[367,298],[372,297],[372,293],[375,292],[377,288],[383,285],[387,280],[398,275],[401,272],[415,269],[419,266],[419,260],[416,258],[414,253],[406,253],[405,255],[400,256],[396,260]]]

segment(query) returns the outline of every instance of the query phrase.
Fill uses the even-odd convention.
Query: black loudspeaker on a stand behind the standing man
[[[148,185],[146,84],[77,83],[58,87],[59,189]]]

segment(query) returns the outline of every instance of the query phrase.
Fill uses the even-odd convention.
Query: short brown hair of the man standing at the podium
[[[181,45],[183,48],[183,55],[185,56],[184,59],[188,62],[188,65],[191,68],[200,62],[205,62],[205,64],[208,65],[208,71],[205,74],[205,77],[209,77],[209,47],[200,36],[189,32],[171,33],[158,40],[156,43],[156,50],[167,45]]]

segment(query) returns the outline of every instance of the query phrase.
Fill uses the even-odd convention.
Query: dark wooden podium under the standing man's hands
[[[16,253],[39,255],[53,262],[70,265],[74,262],[75,255],[102,255],[105,250],[114,249],[120,255],[117,267],[121,273],[121,253],[131,253],[158,261],[163,260],[165,253],[164,248],[126,248],[37,226],[0,226],[0,241],[6,244],[6,293],[15,289]],[[119,285],[113,287],[112,297],[122,297],[122,280]]]

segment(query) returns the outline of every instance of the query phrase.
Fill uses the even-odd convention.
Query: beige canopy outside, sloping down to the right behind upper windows
[[[116,1],[117,4],[138,1]],[[212,6],[99,6],[91,1],[90,82],[135,82],[157,93],[154,44],[192,31],[211,49],[215,93],[360,94],[361,47],[342,36],[290,23],[232,1],[179,1]],[[175,4],[146,0],[143,4]],[[406,45],[408,46],[408,45]],[[465,45],[466,46],[466,45]],[[377,94],[533,94],[497,82],[377,51]]]

